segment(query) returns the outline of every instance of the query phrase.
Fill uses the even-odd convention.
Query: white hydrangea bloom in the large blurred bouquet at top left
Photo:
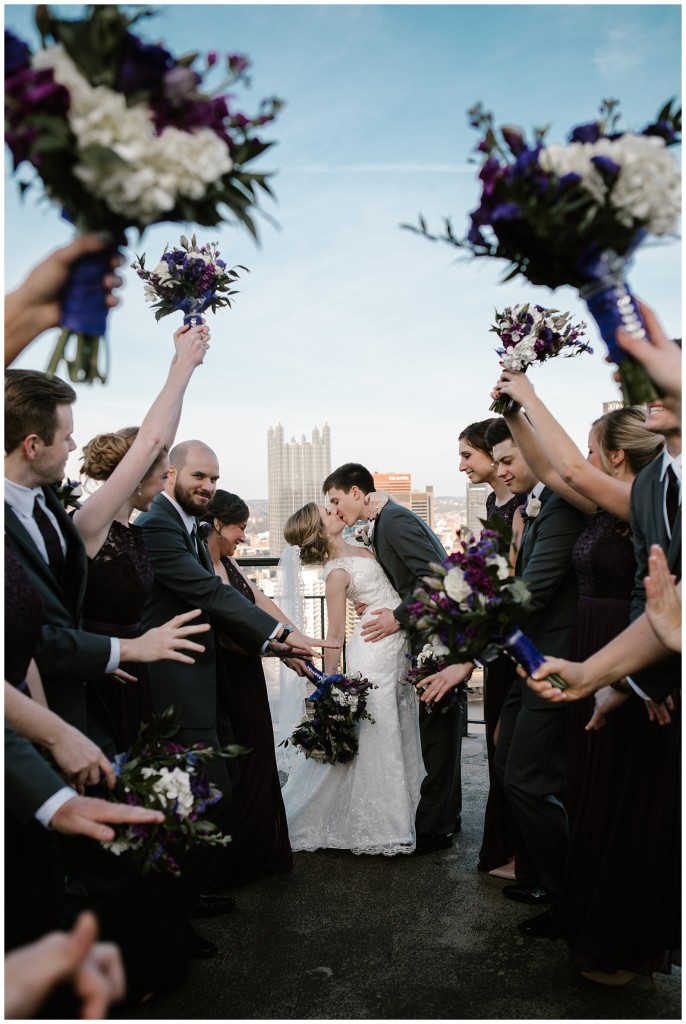
[[[180,197],[201,199],[208,184],[231,170],[226,144],[211,128],[185,132],[169,127],[157,135],[145,105],[129,108],[123,94],[89,85],[62,46],[39,50],[33,65],[52,68],[56,81],[69,90],[68,119],[79,148],[100,145],[121,158],[123,163],[113,160],[97,168],[77,163],[74,169],[113,213],[151,223]]]

